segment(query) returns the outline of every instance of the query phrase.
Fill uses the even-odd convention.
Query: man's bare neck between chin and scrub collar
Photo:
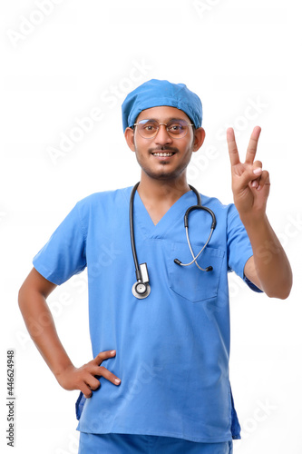
[[[190,186],[187,183],[185,175],[181,175],[179,179],[155,180],[146,173],[141,173],[138,192],[143,199],[153,202],[161,202],[163,200],[175,202],[181,195],[189,191]]]

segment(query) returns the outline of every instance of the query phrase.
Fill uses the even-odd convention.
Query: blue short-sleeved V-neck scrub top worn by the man
[[[197,203],[196,195],[183,194],[154,225],[136,192],[135,243],[151,283],[148,298],[138,300],[132,295],[131,191],[97,192],[77,202],[34,257],[34,268],[58,285],[87,266],[93,357],[116,350],[102,366],[122,383],[100,379],[101,388],[80,404],[77,429],[209,443],[238,439],[229,384],[227,275],[235,271],[245,279],[244,266],[253,254],[247,232],[234,204],[201,195],[217,226],[199,263],[213,271],[200,271],[195,264],[180,267],[175,258],[191,261],[183,216]],[[195,254],[210,225],[208,212],[190,213]]]

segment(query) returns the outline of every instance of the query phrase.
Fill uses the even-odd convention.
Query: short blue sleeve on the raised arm
[[[244,267],[253,250],[248,233],[240,220],[239,212],[234,204],[229,205],[228,212],[228,266],[229,271],[235,271],[253,291],[261,292],[244,274]]]

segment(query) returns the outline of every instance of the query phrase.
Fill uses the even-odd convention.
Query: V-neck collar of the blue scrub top
[[[183,216],[190,205],[196,204],[196,195],[193,191],[185,192],[180,198],[174,202],[168,212],[161,217],[161,220],[154,225],[151,220],[151,215],[146,209],[145,205],[141,200],[141,196],[138,191],[134,195],[134,225],[140,226],[141,232],[144,236],[149,238],[161,238],[164,232],[174,225],[175,222],[183,222]],[[136,209],[135,209],[136,208]]]

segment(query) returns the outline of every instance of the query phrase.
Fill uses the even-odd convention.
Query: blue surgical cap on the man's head
[[[185,84],[171,84],[168,81],[151,79],[135,88],[122,103],[122,127],[125,132],[132,127],[141,111],[169,105],[187,114],[196,128],[202,122],[202,105],[197,94],[190,92]]]

